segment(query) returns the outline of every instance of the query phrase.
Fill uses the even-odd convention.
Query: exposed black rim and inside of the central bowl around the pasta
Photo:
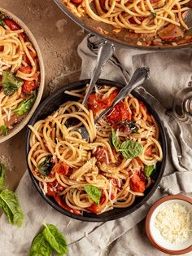
[[[69,84],[68,86],[64,86],[63,88],[59,90],[55,90],[55,92],[50,95],[46,100],[37,108],[36,112],[33,114],[33,117],[29,121],[29,125],[33,126],[36,121],[45,119],[48,115],[53,113],[55,110],[59,108],[59,106],[67,101],[76,100],[76,97],[73,97],[71,95],[67,95],[64,93],[65,90],[76,90],[79,88],[84,87],[86,84],[89,83],[89,80],[82,80],[78,82],[73,82]],[[99,79],[97,82],[98,85],[107,85],[107,86],[116,86],[116,87],[122,87],[123,85],[119,82],[111,82],[109,80],[103,80]],[[28,172],[30,174],[31,179],[33,180],[33,184],[37,188],[37,191],[41,194],[43,199],[50,204],[55,210],[58,210],[60,213],[67,215],[68,217],[89,221],[89,222],[103,222],[108,221],[116,218],[124,217],[125,215],[131,214],[133,211],[137,210],[139,207],[141,207],[143,204],[146,203],[146,201],[149,200],[149,198],[152,196],[152,194],[155,192],[155,189],[158,187],[160,179],[162,178],[162,175],[164,174],[164,166],[166,162],[166,155],[167,155],[167,141],[164,134],[164,128],[161,125],[161,121],[159,119],[158,114],[155,112],[155,110],[151,107],[150,104],[147,104],[146,99],[142,98],[142,95],[139,95],[136,91],[133,91],[132,94],[137,98],[142,100],[144,104],[146,104],[146,107],[148,108],[149,112],[155,117],[155,120],[157,121],[159,125],[159,140],[161,142],[162,148],[163,148],[163,154],[164,159],[161,163],[158,163],[157,168],[159,170],[158,178],[155,180],[155,183],[150,187],[149,189],[146,189],[145,196],[137,197],[137,199],[134,201],[133,205],[131,205],[129,208],[115,208],[113,210],[107,211],[103,214],[92,214],[92,213],[84,213],[83,215],[76,215],[68,212],[67,210],[64,210],[61,208],[55,200],[51,196],[45,196],[41,192],[41,188],[39,188],[37,179],[34,178],[33,174],[29,170]],[[31,135],[31,130],[27,130],[27,139],[26,139],[26,156],[28,156],[29,151],[29,137]]]

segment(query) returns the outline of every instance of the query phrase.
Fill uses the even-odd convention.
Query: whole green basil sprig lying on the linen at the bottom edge
[[[68,254],[68,245],[65,237],[52,224],[44,224],[44,229],[33,239],[28,256],[50,256],[52,252],[62,256]]]

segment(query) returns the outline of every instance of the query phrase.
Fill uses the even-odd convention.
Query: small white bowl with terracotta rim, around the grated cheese
[[[185,206],[192,213],[192,199],[187,196],[165,196],[151,207],[146,216],[146,234],[151,243],[159,250],[166,254],[180,255],[190,253],[192,251],[192,233],[187,241],[172,244],[165,241],[159,230],[155,227],[155,218],[159,210],[166,205],[177,203]]]

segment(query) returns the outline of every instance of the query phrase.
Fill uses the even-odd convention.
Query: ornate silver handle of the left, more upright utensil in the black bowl
[[[85,97],[83,99],[82,104],[85,105],[87,103],[87,99],[89,98],[89,95],[91,94],[91,91],[93,90],[96,82],[98,81],[98,77],[100,77],[104,65],[107,63],[107,61],[111,58],[115,51],[115,46],[113,43],[104,41],[98,46],[98,59],[96,66],[94,68],[93,75],[91,77],[91,80],[89,82],[88,90],[86,91]]]

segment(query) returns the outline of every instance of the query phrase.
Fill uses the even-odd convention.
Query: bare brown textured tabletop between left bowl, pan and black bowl
[[[85,33],[60,11],[53,0],[1,0],[0,7],[17,15],[31,30],[46,68],[44,98],[68,82],[78,80],[81,60],[76,48]],[[0,144],[0,161],[7,166],[7,185],[16,188],[24,171],[26,128]]]

